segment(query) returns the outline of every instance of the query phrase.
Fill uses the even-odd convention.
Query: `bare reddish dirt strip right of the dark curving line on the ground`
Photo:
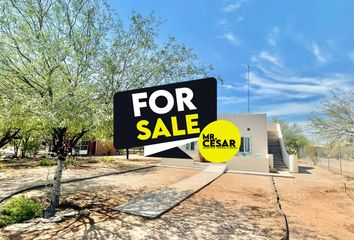
[[[354,201],[345,182],[312,166],[300,166],[295,178],[275,178],[290,239],[354,239]]]

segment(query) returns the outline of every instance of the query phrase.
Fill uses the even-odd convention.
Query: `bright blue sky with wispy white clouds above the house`
[[[304,124],[321,97],[354,86],[354,1],[113,1],[121,19],[154,12],[220,76],[218,112],[265,112]]]

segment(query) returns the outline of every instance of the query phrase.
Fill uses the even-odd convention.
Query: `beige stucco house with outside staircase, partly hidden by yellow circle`
[[[234,123],[241,132],[240,150],[227,163],[228,169],[270,172],[289,171],[290,166],[291,172],[297,171],[296,159],[289,156],[285,150],[279,124],[267,122],[266,114],[223,114],[218,115],[218,119]],[[198,158],[197,142],[179,148],[191,158]]]

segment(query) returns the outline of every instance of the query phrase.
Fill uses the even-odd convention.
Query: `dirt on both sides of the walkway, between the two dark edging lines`
[[[63,185],[63,200],[89,210],[61,223],[30,221],[0,231],[4,239],[281,239],[284,222],[269,177],[224,174],[158,219],[111,208],[200,170],[152,168]],[[43,191],[26,193],[41,197]]]

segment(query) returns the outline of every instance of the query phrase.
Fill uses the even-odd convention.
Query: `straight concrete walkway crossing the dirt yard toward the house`
[[[113,210],[146,218],[157,218],[217,179],[225,171],[225,164],[210,165],[202,172],[172,184],[165,190],[134,199]]]

